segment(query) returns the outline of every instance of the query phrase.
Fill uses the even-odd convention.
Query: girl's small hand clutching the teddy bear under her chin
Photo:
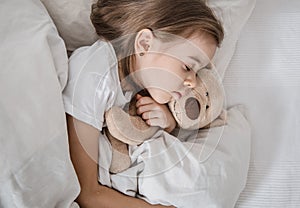
[[[149,126],[160,126],[167,132],[173,131],[176,121],[165,104],[159,104],[151,97],[137,94],[137,114],[141,115]]]

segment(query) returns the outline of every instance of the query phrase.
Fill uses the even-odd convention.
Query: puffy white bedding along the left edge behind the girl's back
[[[70,206],[79,183],[61,91],[64,41],[39,0],[0,6],[0,206]]]

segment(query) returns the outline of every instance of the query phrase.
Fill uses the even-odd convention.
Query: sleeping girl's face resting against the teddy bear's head
[[[210,66],[216,50],[215,40],[204,33],[169,42],[155,37],[140,42],[146,41],[147,50],[137,54],[135,76],[160,104],[189,93],[196,86],[197,72]]]

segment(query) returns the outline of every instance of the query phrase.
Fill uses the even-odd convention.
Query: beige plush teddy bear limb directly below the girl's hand
[[[105,119],[111,135],[129,145],[141,144],[151,138],[159,129],[159,127],[147,125],[139,116],[130,116],[116,106],[105,113]]]

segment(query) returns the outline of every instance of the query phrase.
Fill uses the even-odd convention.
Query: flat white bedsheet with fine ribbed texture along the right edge
[[[252,127],[236,207],[300,207],[300,1],[257,1],[224,85],[228,106],[246,105]]]

